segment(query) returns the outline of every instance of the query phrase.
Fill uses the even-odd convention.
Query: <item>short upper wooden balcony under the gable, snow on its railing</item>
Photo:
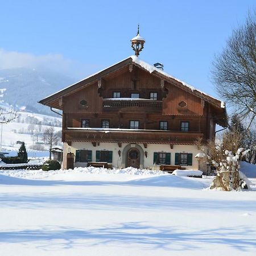
[[[155,101],[149,99],[134,99],[134,98],[117,98],[105,99],[102,103],[104,111],[115,111],[115,112],[162,112],[162,101]]]

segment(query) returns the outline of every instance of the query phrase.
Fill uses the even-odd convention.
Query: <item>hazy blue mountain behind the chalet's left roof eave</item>
[[[2,100],[14,106],[26,106],[27,110],[38,113],[52,114],[38,101],[74,82],[76,79],[52,71],[27,68],[0,70],[0,89],[6,88]]]

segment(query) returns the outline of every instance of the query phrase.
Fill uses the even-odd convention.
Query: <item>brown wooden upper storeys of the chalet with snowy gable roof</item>
[[[40,103],[63,111],[62,139],[70,147],[89,142],[172,148],[213,139],[216,123],[227,125],[221,101],[151,67],[129,57]]]

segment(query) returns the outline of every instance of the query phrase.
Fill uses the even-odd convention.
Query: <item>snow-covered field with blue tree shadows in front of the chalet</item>
[[[221,192],[133,168],[0,171],[1,255],[255,255],[250,180]]]

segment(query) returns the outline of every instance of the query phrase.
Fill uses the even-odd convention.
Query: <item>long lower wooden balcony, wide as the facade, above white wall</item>
[[[115,142],[115,143],[150,143],[150,144],[195,144],[203,133],[131,130],[131,129],[101,129],[101,128],[67,128],[63,130],[65,142]]]

